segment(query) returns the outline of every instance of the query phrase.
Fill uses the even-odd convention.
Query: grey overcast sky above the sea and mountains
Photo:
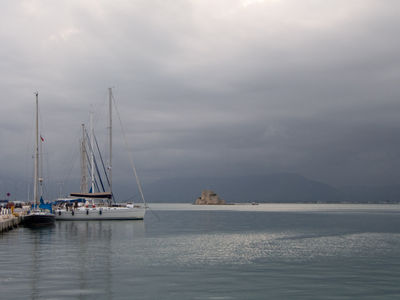
[[[91,107],[104,136],[108,87],[145,184],[274,172],[397,184],[399,28],[396,0],[3,0],[0,198],[31,181],[34,92],[55,189],[79,184]]]

